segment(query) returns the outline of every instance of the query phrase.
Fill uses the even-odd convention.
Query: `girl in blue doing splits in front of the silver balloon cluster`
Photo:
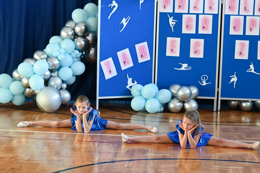
[[[212,134],[203,132],[204,126],[201,122],[199,113],[194,110],[186,111],[183,120],[178,121],[176,127],[176,131],[158,136],[127,137],[122,133],[122,142],[176,143],[180,144],[182,148],[186,148],[186,146],[195,148],[196,146],[213,145],[219,147],[257,149],[259,146],[259,142],[247,144],[239,141],[220,139],[212,136]]]

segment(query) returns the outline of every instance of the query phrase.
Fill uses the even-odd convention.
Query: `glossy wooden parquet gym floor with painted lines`
[[[70,119],[70,107],[42,112],[35,103],[22,106],[0,103],[0,172],[260,172],[257,150],[204,146],[182,149],[179,144],[122,143],[121,133],[133,136],[167,134],[183,112],[149,114],[131,108],[99,104],[100,116],[114,122],[152,125],[146,130],[90,131],[40,126],[18,128],[20,121]],[[93,105],[92,105],[93,106]],[[205,132],[216,137],[253,143],[260,140],[260,112],[222,109],[220,114],[199,108]]]

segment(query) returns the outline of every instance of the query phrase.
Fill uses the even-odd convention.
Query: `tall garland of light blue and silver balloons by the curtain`
[[[20,106],[32,98],[45,112],[57,110],[71,99],[67,85],[85,71],[80,58],[96,63],[98,8],[93,3],[76,9],[60,36],[53,36],[46,48],[27,58],[12,73],[0,75],[0,102]]]

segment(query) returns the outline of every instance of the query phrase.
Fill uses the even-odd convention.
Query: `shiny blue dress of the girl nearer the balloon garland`
[[[87,110],[89,110],[90,107],[87,108]],[[74,107],[73,110],[77,110],[77,107]],[[104,130],[107,126],[107,122],[108,120],[102,119],[100,116],[98,116],[98,111],[94,110],[92,108],[92,110],[89,112],[89,118],[88,118],[88,122],[91,121],[93,119],[93,116],[95,116],[94,120],[93,120],[93,124],[92,127],[90,129],[90,131],[99,131],[99,130]],[[72,130],[77,130],[76,129],[76,124],[75,124],[75,120],[77,121],[77,116],[74,114],[71,114],[71,124],[73,125],[73,127],[71,128]],[[84,130],[83,128],[83,122],[81,122],[82,125],[82,130]]]

